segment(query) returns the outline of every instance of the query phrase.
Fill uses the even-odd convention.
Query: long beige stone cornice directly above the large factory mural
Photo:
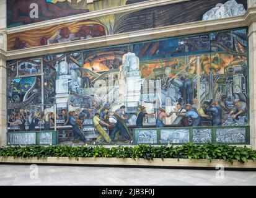
[[[136,32],[108,35],[106,37],[90,38],[87,40],[78,40],[68,43],[19,49],[9,51],[6,54],[8,60],[29,58],[46,54],[65,53],[68,51],[78,51],[82,49],[122,45],[138,41],[155,40],[180,35],[225,30],[229,28],[249,27],[252,22],[256,22],[256,7],[251,7],[248,9],[245,15],[229,17],[226,19],[190,22],[187,24],[170,25],[166,27],[139,30]]]

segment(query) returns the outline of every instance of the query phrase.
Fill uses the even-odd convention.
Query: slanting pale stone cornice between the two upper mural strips
[[[94,19],[97,17],[102,17],[104,15],[109,15],[109,14],[134,12],[134,11],[139,11],[141,9],[146,9],[150,7],[164,6],[167,4],[174,4],[177,2],[184,2],[184,1],[190,1],[190,0],[151,0],[146,2],[138,2],[136,4],[129,4],[125,6],[113,7],[110,9],[104,9],[100,11],[92,11],[84,14],[61,17],[59,19],[45,20],[43,22],[37,22],[29,25],[22,25],[19,27],[7,28],[7,33],[17,33],[17,32],[23,32],[27,30],[33,30],[36,28],[48,27],[52,25],[60,25],[60,24],[66,24],[69,22],[77,22],[81,20]]]

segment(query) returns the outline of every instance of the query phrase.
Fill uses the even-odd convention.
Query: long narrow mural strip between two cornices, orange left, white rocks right
[[[58,1],[56,4],[64,2],[66,1]],[[97,3],[94,2],[94,5],[100,4],[100,2],[101,1],[97,1]],[[119,1],[111,2],[113,4],[113,2]],[[120,1],[119,4],[121,4],[121,2],[125,4],[135,1]],[[50,4],[53,3],[51,2]],[[55,4],[53,5],[56,6]],[[104,5],[109,5],[107,4],[107,0]],[[73,22],[50,27],[42,27],[25,32],[12,33],[7,35],[7,49],[11,51],[16,49],[32,48],[35,46],[103,37],[106,35],[132,32],[148,28],[164,27],[167,25],[195,22],[199,20],[231,17],[234,15],[245,14],[245,9],[247,9],[247,0],[196,0],[180,2],[166,6],[143,9],[136,12],[126,12],[115,15],[110,14],[105,15],[104,17],[84,20],[81,22]]]

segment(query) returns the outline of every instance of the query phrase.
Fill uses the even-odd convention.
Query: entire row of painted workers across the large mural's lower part
[[[225,111],[229,111],[227,116],[232,117],[232,119],[239,119],[239,116],[245,116],[247,113],[247,104],[239,99],[234,100],[234,107],[230,110],[225,108]],[[210,126],[221,126],[222,124],[222,112],[223,104],[218,100],[204,101],[203,105],[196,110],[191,104],[186,104],[184,107],[177,103],[174,111],[169,114],[166,113],[164,108],[159,108],[155,113],[147,113],[145,106],[138,106],[138,112],[136,113],[136,128],[143,128],[143,123],[145,118],[155,118],[156,127],[164,127],[164,119],[170,118],[173,114],[176,115],[175,120],[179,126],[204,126],[204,122],[210,123]],[[21,131],[25,131],[25,122],[29,123],[31,130],[34,130],[35,125],[38,124],[40,119],[43,120],[44,127],[46,131],[50,131],[51,126],[55,126],[55,114],[49,112],[42,115],[33,111],[33,113],[21,111],[20,114],[12,113],[9,116],[9,124],[18,124]],[[92,112],[87,109],[67,112],[65,109],[61,110],[61,116],[56,115],[56,119],[64,119],[63,125],[70,124],[74,129],[74,140],[86,141],[86,137],[82,133],[82,125],[84,119],[92,119],[92,123],[95,130],[99,132],[99,136],[96,142],[107,142],[112,144],[113,141],[118,140],[119,135],[123,136],[125,142],[131,142],[131,134],[126,126],[126,119],[128,116],[125,114],[125,106],[120,106],[116,111],[110,111],[109,106],[105,105],[100,108],[94,116]],[[110,135],[106,131],[105,127],[110,128]],[[108,130],[109,131],[109,130]]]

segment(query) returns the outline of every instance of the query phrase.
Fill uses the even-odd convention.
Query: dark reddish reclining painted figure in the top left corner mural
[[[30,17],[30,4],[38,5],[39,17],[32,19]],[[89,9],[61,9],[51,2],[45,0],[17,0],[13,5],[12,23],[22,22],[23,24],[30,24],[32,22],[39,22],[45,19],[56,19],[59,17],[66,17],[73,14],[81,14],[89,12]],[[21,17],[22,15],[22,17]]]

